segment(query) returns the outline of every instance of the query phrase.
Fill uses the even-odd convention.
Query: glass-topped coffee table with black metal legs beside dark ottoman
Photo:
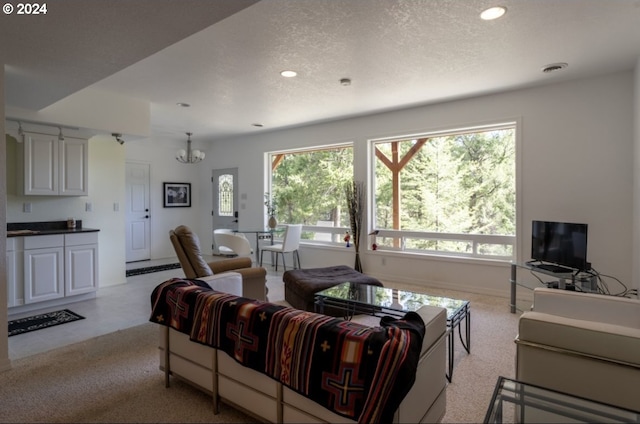
[[[353,315],[368,314],[375,316],[391,315],[402,318],[407,312],[415,312],[421,306],[440,306],[447,310],[448,369],[447,380],[453,378],[454,338],[451,334],[458,328],[462,347],[471,353],[471,305],[468,300],[432,296],[409,290],[370,286],[368,284],[342,283],[315,294],[316,312],[323,313],[325,307],[345,312],[345,318]],[[465,337],[462,337],[464,321]]]

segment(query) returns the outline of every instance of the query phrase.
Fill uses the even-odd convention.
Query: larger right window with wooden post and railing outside
[[[515,124],[373,142],[381,250],[513,258]]]

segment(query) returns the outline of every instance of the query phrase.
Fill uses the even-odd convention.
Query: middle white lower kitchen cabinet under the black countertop
[[[64,297],[64,236],[25,237],[24,302]]]

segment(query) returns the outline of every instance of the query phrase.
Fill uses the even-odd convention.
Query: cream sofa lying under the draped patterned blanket
[[[239,275],[225,273],[206,280],[214,290],[241,295]],[[425,306],[418,313],[426,324],[420,362],[415,383],[396,410],[394,422],[438,422],[446,409],[446,310]],[[159,335],[160,368],[165,372],[166,386],[170,376],[186,380],[212,395],[216,412],[221,399],[268,422],[350,422],[242,366],[225,352],[190,341],[188,335],[173,328],[161,326]]]

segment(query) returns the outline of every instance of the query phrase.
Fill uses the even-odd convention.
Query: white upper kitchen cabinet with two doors
[[[29,135],[18,178],[25,195],[87,196],[89,143],[85,139]]]

